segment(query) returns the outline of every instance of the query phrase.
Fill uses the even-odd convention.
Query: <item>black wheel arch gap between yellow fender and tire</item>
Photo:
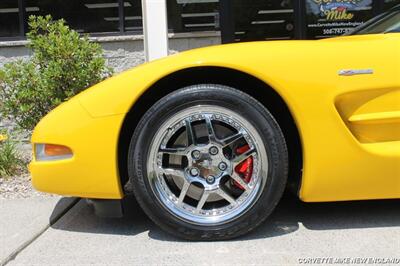
[[[289,150],[288,188],[298,193],[303,168],[301,137],[287,103],[271,86],[264,81],[231,68],[192,67],[171,73],[150,86],[127,113],[118,140],[118,170],[125,193],[131,188],[128,184],[126,158],[132,132],[145,112],[159,99],[180,88],[195,84],[219,84],[241,90],[263,104],[275,117],[287,141]]]

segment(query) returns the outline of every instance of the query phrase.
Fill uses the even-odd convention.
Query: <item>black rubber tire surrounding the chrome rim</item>
[[[155,132],[175,112],[198,104],[221,106],[245,117],[262,137],[268,156],[268,178],[258,200],[243,215],[219,225],[196,225],[171,215],[153,193],[147,178],[147,158]],[[282,197],[288,164],[283,133],[269,111],[248,94],[215,84],[182,88],[155,103],[138,123],[128,154],[129,178],[140,206],[163,230],[188,240],[232,239],[256,228],[272,213]]]

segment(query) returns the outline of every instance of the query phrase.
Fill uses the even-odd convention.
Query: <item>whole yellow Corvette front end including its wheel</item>
[[[133,193],[186,239],[228,239],[306,202],[400,198],[400,7],[349,36],[197,49],[110,78],[32,136],[36,189]]]

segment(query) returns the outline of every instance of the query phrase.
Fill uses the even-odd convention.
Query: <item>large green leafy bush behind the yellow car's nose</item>
[[[28,61],[0,70],[0,114],[31,130],[54,107],[112,74],[103,51],[51,16],[29,17]]]

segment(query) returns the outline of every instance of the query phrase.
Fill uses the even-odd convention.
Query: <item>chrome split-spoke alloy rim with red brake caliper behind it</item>
[[[266,183],[268,158],[257,130],[239,113],[198,105],[168,118],[153,137],[147,177],[160,203],[197,225],[244,214]]]

